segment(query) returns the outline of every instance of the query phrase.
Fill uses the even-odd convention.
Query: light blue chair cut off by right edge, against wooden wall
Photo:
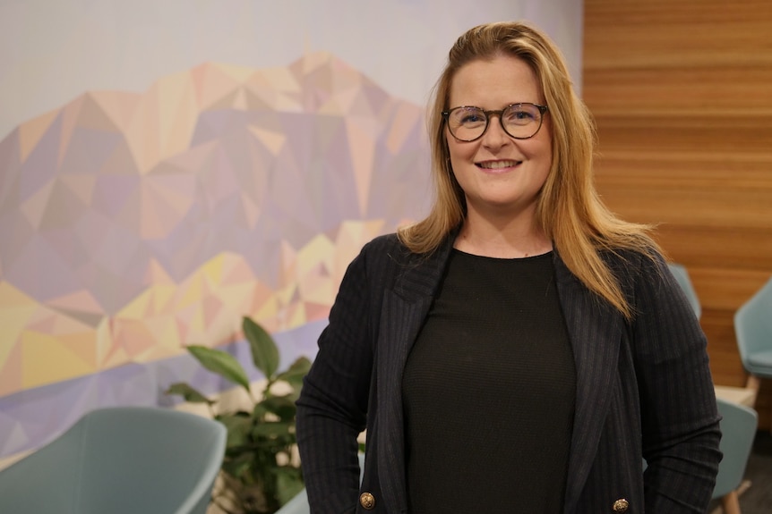
[[[734,335],[745,370],[772,375],[768,366],[759,366],[752,357],[759,350],[772,351],[772,278],[734,313]]]

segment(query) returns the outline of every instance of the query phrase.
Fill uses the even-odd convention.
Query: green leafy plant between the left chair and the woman
[[[272,514],[302,491],[304,483],[296,456],[296,407],[303,377],[311,367],[308,358],[297,358],[279,373],[279,350],[262,326],[244,316],[242,328],[249,342],[254,366],[267,380],[256,398],[244,368],[223,350],[191,345],[186,349],[203,367],[241,386],[250,409],[219,409],[187,383],[174,383],[167,394],[203,403],[214,419],[227,428],[227,446],[212,501],[227,514]],[[280,391],[280,392],[278,392]]]

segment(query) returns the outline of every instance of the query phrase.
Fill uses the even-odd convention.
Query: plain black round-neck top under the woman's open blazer
[[[561,513],[575,395],[552,252],[454,249],[403,375],[410,513]]]

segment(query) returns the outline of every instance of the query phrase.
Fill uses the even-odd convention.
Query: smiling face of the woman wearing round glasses
[[[450,84],[450,109],[467,105],[499,110],[521,102],[545,105],[545,98],[530,66],[510,55],[467,63]],[[552,164],[549,114],[530,139],[511,138],[498,115],[489,118],[485,134],[470,142],[455,139],[445,126],[450,164],[466,195],[467,215],[532,217]]]

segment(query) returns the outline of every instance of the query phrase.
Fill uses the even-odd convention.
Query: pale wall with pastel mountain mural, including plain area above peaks
[[[183,347],[249,367],[241,316],[313,357],[351,259],[430,203],[424,107],[452,41],[533,20],[579,84],[581,12],[0,4],[0,466],[87,410],[221,391]]]

